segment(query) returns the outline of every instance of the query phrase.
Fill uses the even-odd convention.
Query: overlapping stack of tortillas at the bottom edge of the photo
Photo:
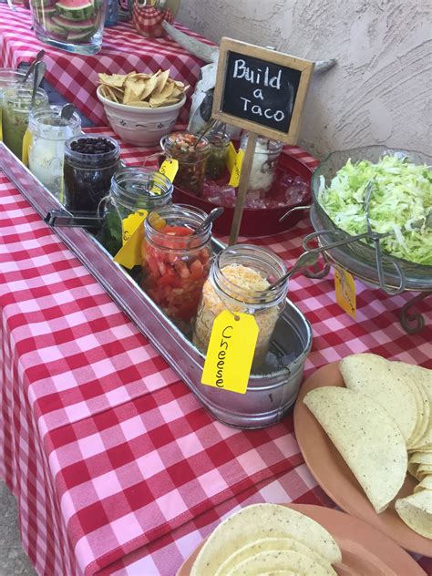
[[[332,564],[341,560],[333,536],[315,520],[277,504],[254,504],[212,532],[190,576],[335,576]]]

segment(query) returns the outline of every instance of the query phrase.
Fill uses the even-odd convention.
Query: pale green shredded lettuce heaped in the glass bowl
[[[366,231],[365,191],[373,182],[370,200],[372,230],[392,231],[381,240],[383,252],[410,262],[432,266],[432,170],[397,156],[384,156],[376,164],[349,159],[330,186],[320,177],[318,200],[334,224],[349,234]]]

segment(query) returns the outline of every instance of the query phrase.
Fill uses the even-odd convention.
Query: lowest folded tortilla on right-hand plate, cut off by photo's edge
[[[396,512],[411,530],[432,539],[432,493],[420,490],[396,500]]]

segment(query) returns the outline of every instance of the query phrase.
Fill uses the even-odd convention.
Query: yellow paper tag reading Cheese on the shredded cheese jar
[[[257,338],[258,324],[251,314],[221,312],[211,329],[201,383],[244,394]]]

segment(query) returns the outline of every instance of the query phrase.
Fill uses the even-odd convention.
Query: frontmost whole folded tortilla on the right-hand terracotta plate
[[[377,514],[395,498],[406,477],[406,443],[396,420],[374,399],[323,386],[303,399],[365,490]]]

